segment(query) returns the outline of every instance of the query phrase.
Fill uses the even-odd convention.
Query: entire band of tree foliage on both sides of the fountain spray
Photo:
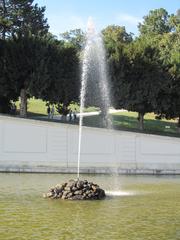
[[[79,102],[85,33],[75,29],[55,39],[48,33],[45,7],[33,2],[0,0],[0,105],[8,107],[23,89],[24,99],[35,96],[68,108]],[[138,112],[141,121],[147,112],[180,119],[179,11],[152,10],[139,31],[136,39],[121,26],[102,31],[113,105]]]

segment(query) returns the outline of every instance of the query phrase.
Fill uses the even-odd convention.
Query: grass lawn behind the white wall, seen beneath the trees
[[[17,109],[19,109],[19,102],[16,102]],[[79,106],[77,104],[71,104],[70,108],[72,111],[76,108],[77,112],[79,111]],[[97,111],[98,108],[89,107],[86,108],[86,112]],[[58,112],[55,112],[58,114]],[[47,115],[46,102],[43,102],[40,99],[31,98],[28,100],[28,116],[45,116]],[[138,114],[136,112],[117,112],[111,115],[112,123],[114,129],[117,130],[130,130],[139,132],[138,129]],[[100,116],[87,116],[84,117],[84,125],[92,127],[100,127]],[[77,124],[77,122],[76,122]],[[175,120],[156,120],[153,113],[148,113],[145,115],[144,120],[144,132],[159,134],[159,135],[170,135],[180,137],[180,134],[177,133],[177,125]]]

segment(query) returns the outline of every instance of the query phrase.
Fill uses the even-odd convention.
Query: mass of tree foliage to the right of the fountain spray
[[[180,116],[178,29],[178,14],[156,9],[139,25],[139,38],[128,44],[123,38],[106,43],[115,107],[139,112],[142,121],[151,111],[167,118]]]

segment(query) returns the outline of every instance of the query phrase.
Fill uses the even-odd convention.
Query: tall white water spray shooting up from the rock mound
[[[93,74],[93,76],[92,76]],[[80,157],[81,157],[81,140],[82,140],[82,125],[83,111],[87,95],[88,81],[95,79],[98,82],[99,107],[101,108],[101,116],[103,126],[110,128],[111,121],[108,117],[110,107],[109,87],[106,67],[106,54],[103,45],[103,40],[100,34],[95,31],[92,18],[88,19],[86,43],[82,56],[82,73],[81,73],[81,91],[80,91],[80,115],[79,115],[79,139],[78,139],[78,170],[77,178],[79,179]]]

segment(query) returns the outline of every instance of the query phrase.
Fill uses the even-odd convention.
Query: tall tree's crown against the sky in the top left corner
[[[45,7],[33,5],[34,0],[0,1],[0,37],[13,35],[45,35],[49,26],[44,18]]]

